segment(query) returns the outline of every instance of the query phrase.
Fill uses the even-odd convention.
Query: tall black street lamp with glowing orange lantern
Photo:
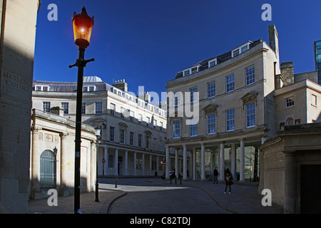
[[[76,102],[76,137],[75,137],[75,183],[74,183],[74,208],[75,214],[81,214],[80,209],[80,156],[81,156],[81,103],[83,100],[83,68],[86,63],[94,61],[93,58],[85,60],[85,49],[91,41],[91,31],[93,29],[93,17],[88,16],[85,6],[81,9],[81,14],[73,13],[73,35],[76,46],[79,48],[79,58],[76,63],[69,66],[78,67],[77,78],[77,102]]]

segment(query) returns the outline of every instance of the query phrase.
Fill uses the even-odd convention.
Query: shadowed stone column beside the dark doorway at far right
[[[294,155],[285,152],[285,175],[284,175],[284,213],[294,214]]]

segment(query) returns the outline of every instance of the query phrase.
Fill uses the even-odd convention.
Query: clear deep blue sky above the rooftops
[[[58,21],[49,21],[49,4]],[[263,21],[263,4],[272,21]],[[85,76],[113,84],[126,79],[161,96],[178,71],[259,38],[268,43],[268,25],[279,34],[281,62],[295,73],[315,71],[313,42],[321,39],[320,0],[42,0],[36,30],[34,80],[76,82],[78,58],[71,17],[86,6],[95,16]]]

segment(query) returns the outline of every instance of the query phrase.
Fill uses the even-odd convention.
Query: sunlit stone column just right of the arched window
[[[66,142],[66,138],[68,136],[68,133],[60,133],[60,142],[61,142],[61,148],[60,148],[60,154],[61,154],[61,167],[60,167],[60,188],[59,188],[59,195],[66,197],[69,195],[68,187],[66,186],[66,182],[68,180],[67,174],[68,174],[68,165],[67,165],[67,156],[68,156],[68,142]],[[92,147],[92,145],[91,145]],[[96,167],[96,165],[95,165]]]

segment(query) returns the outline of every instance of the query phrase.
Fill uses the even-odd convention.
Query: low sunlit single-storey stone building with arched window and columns
[[[56,108],[56,107],[55,107]],[[49,189],[73,195],[76,123],[51,108],[32,110],[29,197],[48,197]],[[58,107],[58,111],[59,111]],[[56,114],[54,114],[56,113]],[[96,182],[95,128],[81,126],[81,192],[94,190]]]

